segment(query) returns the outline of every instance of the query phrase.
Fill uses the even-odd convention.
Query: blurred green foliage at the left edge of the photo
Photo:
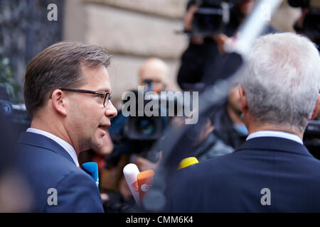
[[[2,55],[2,48],[0,45],[0,86],[6,88],[6,92],[9,94],[9,101],[15,102],[17,101],[20,87],[14,79],[14,72],[9,63],[9,58]]]

